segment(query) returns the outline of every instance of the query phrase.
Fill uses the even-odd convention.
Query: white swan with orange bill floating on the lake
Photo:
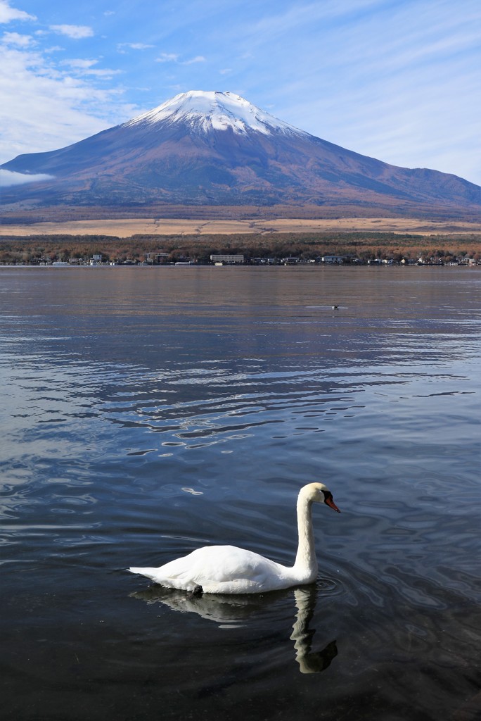
[[[295,564],[282,566],[252,551],[235,546],[206,546],[158,568],[129,570],[166,588],[194,593],[263,593],[312,583],[318,573],[315,557],[312,505],[325,503],[338,513],[330,490],[323,483],[309,483],[297,497],[299,545]]]

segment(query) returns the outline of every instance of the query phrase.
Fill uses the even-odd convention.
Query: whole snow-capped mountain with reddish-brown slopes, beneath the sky
[[[481,210],[481,187],[467,180],[343,149],[231,92],[181,93],[127,123],[60,150],[19,155],[0,170],[35,176],[3,189],[7,208],[30,203],[146,212],[163,204]]]

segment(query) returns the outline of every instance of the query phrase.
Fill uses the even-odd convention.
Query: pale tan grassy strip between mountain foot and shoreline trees
[[[378,232],[416,235],[477,234],[481,223],[462,221],[426,221],[418,218],[332,218],[307,220],[279,218],[269,220],[195,220],[176,218],[123,218],[112,220],[63,221],[0,226],[1,236],[29,235],[108,235],[130,238],[133,235],[226,235],[282,233]]]

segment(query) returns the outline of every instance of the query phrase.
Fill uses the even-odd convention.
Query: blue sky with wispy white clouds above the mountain
[[[0,162],[192,89],[481,185],[479,0],[0,0]]]

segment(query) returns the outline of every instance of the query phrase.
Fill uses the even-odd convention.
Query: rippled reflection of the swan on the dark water
[[[314,584],[285,591],[271,591],[265,595],[242,596],[185,593],[153,585],[130,593],[130,596],[145,603],[163,603],[172,611],[198,614],[203,619],[219,624],[220,628],[234,629],[242,626],[249,616],[265,609],[274,599],[289,596],[292,590],[297,609],[290,637],[294,641],[295,660],[299,664],[300,673],[320,673],[328,668],[338,650],[336,641],[331,641],[322,651],[311,651],[315,629],[310,629],[309,624],[313,619],[317,594]]]

